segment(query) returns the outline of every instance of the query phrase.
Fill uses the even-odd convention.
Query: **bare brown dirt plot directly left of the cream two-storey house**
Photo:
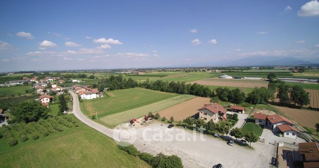
[[[165,116],[168,120],[173,116],[175,121],[182,121],[183,119],[196,114],[199,108],[208,103],[209,98],[195,97],[186,102],[159,111],[159,114],[161,117]]]

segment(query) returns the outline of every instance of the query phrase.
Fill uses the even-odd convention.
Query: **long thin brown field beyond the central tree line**
[[[206,79],[191,82],[191,84],[197,83],[200,85],[210,85],[210,86],[232,86],[232,87],[245,87],[245,88],[255,88],[255,87],[267,87],[268,83],[265,81],[256,80],[237,80],[237,79]]]

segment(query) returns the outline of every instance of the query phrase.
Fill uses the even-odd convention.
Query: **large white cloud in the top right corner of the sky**
[[[301,6],[298,11],[300,17],[319,16],[319,2],[318,0],[312,0]]]

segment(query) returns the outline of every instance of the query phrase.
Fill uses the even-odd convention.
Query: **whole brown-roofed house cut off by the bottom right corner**
[[[296,166],[319,168],[319,143],[299,143],[299,148],[293,151],[292,157]]]

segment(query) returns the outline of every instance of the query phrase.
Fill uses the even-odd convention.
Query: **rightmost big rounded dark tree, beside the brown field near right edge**
[[[310,103],[309,93],[307,93],[301,86],[293,86],[290,91],[290,100],[295,105],[304,106]]]

